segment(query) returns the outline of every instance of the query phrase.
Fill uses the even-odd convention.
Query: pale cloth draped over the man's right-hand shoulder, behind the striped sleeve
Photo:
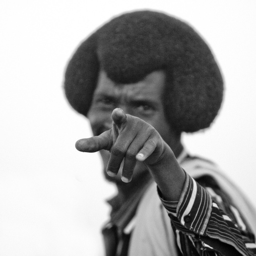
[[[243,222],[249,224],[246,226],[250,226],[249,229],[256,233],[254,206],[217,164],[206,158],[187,154],[180,165],[207,190],[214,202],[217,202],[231,216],[236,216],[239,212]]]

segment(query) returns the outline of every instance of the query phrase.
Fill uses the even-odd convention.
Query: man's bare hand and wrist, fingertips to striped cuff
[[[147,122],[125,114],[120,108],[113,110],[112,119],[112,129],[100,136],[79,140],[76,148],[82,152],[110,151],[107,166],[110,176],[117,174],[124,158],[122,180],[125,182],[132,179],[136,161],[144,162],[164,197],[178,200],[185,173],[159,133]]]

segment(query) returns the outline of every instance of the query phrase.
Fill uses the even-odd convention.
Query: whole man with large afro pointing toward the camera
[[[214,56],[190,26],[151,11],[112,19],[71,58],[65,91],[94,134],[76,148],[100,151],[118,189],[106,255],[256,253],[250,206],[180,141],[209,127],[223,98]]]

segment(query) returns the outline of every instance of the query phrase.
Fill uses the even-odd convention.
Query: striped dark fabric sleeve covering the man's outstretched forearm
[[[217,255],[252,255],[245,246],[236,222],[212,201],[207,190],[186,174],[180,200],[160,199],[182,239],[192,240],[199,251],[220,252]],[[228,202],[227,202],[228,204]],[[253,242],[253,241],[252,241]],[[211,248],[212,247],[212,248]],[[207,254],[205,254],[207,255]]]

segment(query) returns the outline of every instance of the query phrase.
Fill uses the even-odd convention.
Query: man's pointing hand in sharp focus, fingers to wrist
[[[116,108],[112,112],[112,127],[99,136],[77,141],[76,148],[82,152],[108,150],[110,158],[107,173],[117,174],[124,159],[122,180],[132,179],[136,161],[144,161],[146,165],[155,165],[166,147],[165,142],[154,127],[142,119],[125,114]]]

